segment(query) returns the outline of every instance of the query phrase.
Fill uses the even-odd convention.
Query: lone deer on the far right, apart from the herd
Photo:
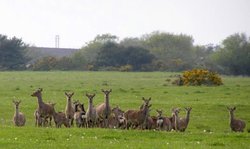
[[[246,127],[246,123],[243,120],[236,119],[234,117],[234,111],[236,110],[236,107],[229,108],[227,107],[229,111],[229,116],[230,116],[230,127],[232,131],[235,132],[243,132],[244,128]]]

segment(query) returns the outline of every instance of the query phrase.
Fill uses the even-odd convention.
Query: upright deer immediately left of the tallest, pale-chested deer
[[[98,115],[96,113],[96,108],[93,105],[93,98],[95,97],[95,94],[86,94],[86,96],[89,99],[89,105],[88,105],[88,109],[86,112],[86,123],[87,123],[87,127],[94,127],[96,126],[96,122],[98,119]]]

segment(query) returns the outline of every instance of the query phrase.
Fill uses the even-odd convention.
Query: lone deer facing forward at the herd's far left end
[[[19,112],[19,104],[21,103],[21,100],[20,101],[13,100],[13,103],[15,105],[13,123],[15,126],[24,126],[26,122],[25,115],[22,112]]]

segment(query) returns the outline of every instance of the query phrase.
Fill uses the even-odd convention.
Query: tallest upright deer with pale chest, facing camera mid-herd
[[[112,92],[112,89],[102,89],[102,92],[104,93],[104,102],[96,107],[96,112],[98,114],[99,120],[104,122],[104,127],[107,128],[109,126],[108,119],[111,115],[111,106],[109,105],[109,94]]]

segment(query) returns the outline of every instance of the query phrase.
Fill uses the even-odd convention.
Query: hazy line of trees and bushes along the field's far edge
[[[21,39],[0,35],[0,70],[183,71],[202,68],[223,74],[250,75],[250,38],[226,37],[220,45],[194,45],[192,36],[152,32],[119,40],[97,35],[68,57],[32,57]]]

